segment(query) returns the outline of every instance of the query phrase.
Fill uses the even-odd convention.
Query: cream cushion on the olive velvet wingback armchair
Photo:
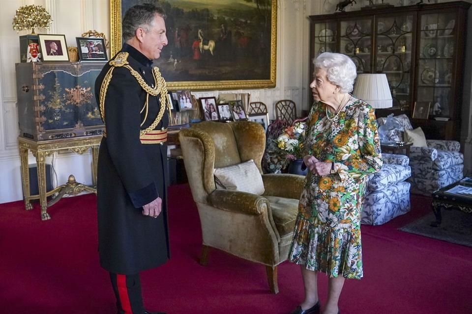
[[[262,195],[265,192],[262,175],[252,159],[237,165],[217,168],[214,176],[217,188],[257,195]]]

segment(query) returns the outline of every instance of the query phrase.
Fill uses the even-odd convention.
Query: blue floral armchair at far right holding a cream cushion
[[[388,134],[388,140],[403,141],[403,132],[413,130],[410,119],[405,115],[393,117],[399,128]],[[377,119],[379,126],[385,118]],[[412,193],[431,196],[431,193],[448,184],[462,179],[464,155],[460,153],[461,145],[450,140],[426,140],[428,147],[410,148],[410,166],[412,176]]]

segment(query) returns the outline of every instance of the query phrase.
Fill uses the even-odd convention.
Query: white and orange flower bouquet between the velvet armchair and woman
[[[305,140],[306,124],[296,122],[293,126],[284,129],[284,132],[275,140],[277,147],[287,152],[287,159],[303,158],[303,142]]]

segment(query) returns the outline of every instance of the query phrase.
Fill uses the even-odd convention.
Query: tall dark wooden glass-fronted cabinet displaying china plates
[[[310,16],[310,61],[341,52],[357,73],[385,73],[393,107],[376,110],[378,116],[406,113],[427,138],[458,140],[470,6],[453,1]]]

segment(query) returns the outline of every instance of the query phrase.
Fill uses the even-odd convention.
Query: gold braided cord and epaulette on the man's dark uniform
[[[102,117],[102,120],[105,121],[105,95],[108,89],[108,85],[110,84],[110,81],[112,79],[112,72],[115,67],[121,67],[124,66],[127,68],[131,75],[136,78],[138,81],[138,84],[145,90],[145,92],[148,93],[148,95],[151,96],[157,96],[161,94],[159,101],[160,101],[160,108],[159,108],[159,113],[156,116],[156,119],[152,124],[146,128],[145,130],[141,130],[139,132],[140,135],[144,135],[148,133],[149,131],[154,130],[154,128],[161,122],[162,117],[164,116],[164,112],[166,110],[166,107],[169,110],[170,113],[170,106],[167,102],[167,84],[165,79],[161,76],[161,73],[159,72],[159,68],[154,67],[152,68],[152,76],[154,77],[154,82],[155,82],[155,87],[151,88],[146,81],[141,77],[141,75],[135,71],[132,67],[129,66],[129,63],[127,61],[128,58],[128,52],[120,52],[118,53],[117,57],[110,61],[110,65],[112,65],[112,68],[107,72],[105,75],[105,78],[103,79],[102,86],[100,87],[100,116]],[[147,96],[148,97],[148,96]],[[146,106],[148,102],[146,101]],[[146,119],[145,119],[146,120]],[[144,121],[143,121],[144,123]]]

